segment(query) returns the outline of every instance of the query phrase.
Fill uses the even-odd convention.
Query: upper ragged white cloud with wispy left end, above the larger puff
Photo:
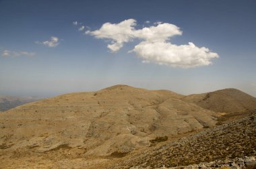
[[[108,48],[113,52],[117,52],[117,50],[123,47],[123,43],[129,42],[134,38],[141,38],[150,42],[164,42],[171,36],[182,34],[179,27],[170,23],[143,27],[141,30],[135,30],[135,25],[135,19],[127,19],[117,24],[104,23],[99,30],[87,31],[86,34],[99,39],[106,38],[112,40],[111,44],[108,44]]]

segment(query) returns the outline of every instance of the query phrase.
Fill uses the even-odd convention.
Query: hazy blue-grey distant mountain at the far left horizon
[[[24,105],[33,101],[38,101],[37,97],[11,97],[0,95],[0,112],[7,111],[19,105]]]

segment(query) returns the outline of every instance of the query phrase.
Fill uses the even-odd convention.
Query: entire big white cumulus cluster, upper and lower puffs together
[[[205,47],[197,47],[192,42],[180,46],[170,43],[170,38],[183,34],[177,25],[158,21],[152,26],[135,29],[136,25],[135,19],[127,19],[120,23],[104,23],[99,30],[88,30],[86,34],[110,40],[107,47],[112,52],[117,52],[124,43],[137,38],[141,42],[129,52],[135,52],[143,62],[193,68],[212,64],[212,58],[219,57],[217,53]]]

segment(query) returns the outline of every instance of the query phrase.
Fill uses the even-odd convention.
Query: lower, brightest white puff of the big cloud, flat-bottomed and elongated
[[[199,48],[191,42],[181,46],[168,42],[141,42],[135,46],[133,52],[142,58],[143,62],[181,68],[206,66],[212,64],[212,58],[218,58],[218,54],[205,47]]]

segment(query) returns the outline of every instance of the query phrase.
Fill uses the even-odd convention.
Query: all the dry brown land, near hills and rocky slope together
[[[255,113],[256,99],[236,89],[69,93],[0,113],[0,168],[220,167],[213,162],[237,158],[249,167]]]

